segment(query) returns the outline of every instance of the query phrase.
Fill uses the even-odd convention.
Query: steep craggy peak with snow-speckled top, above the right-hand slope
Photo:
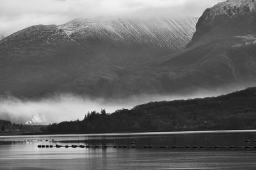
[[[256,1],[228,0],[204,11],[188,46],[227,36],[254,34],[255,31]]]

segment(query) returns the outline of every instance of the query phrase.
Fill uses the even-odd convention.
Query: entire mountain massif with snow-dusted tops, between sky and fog
[[[35,25],[0,41],[0,94],[109,98],[255,86],[255,23],[255,1],[230,0],[205,10],[197,24],[80,18]]]

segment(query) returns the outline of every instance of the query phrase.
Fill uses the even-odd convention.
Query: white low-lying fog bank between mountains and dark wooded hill
[[[228,91],[231,92],[231,91]],[[225,92],[227,93],[227,91]],[[126,99],[88,99],[87,97],[62,94],[40,100],[20,100],[15,97],[0,99],[0,119],[19,124],[52,124],[65,120],[83,120],[88,111],[106,109],[113,113],[122,108],[131,109],[150,101],[172,101],[198,97],[219,96],[223,91],[195,92],[189,96],[132,96]]]

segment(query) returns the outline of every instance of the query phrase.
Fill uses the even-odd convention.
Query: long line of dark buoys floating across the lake
[[[52,145],[38,145],[38,148],[52,148],[53,146]],[[204,148],[214,148],[214,149],[227,149],[227,148],[230,148],[230,149],[235,149],[235,148],[242,148],[242,149],[251,149],[251,148],[255,148],[256,149],[256,146],[234,146],[234,145],[231,145],[231,146],[204,146],[204,145],[193,145],[193,146],[165,146],[165,145],[162,145],[162,146],[157,146],[157,147],[154,147],[153,145],[145,145],[145,146],[136,146],[136,145],[132,145],[132,146],[127,146],[127,145],[114,145],[114,146],[107,146],[107,145],[103,145],[103,146],[100,146],[100,145],[94,145],[94,146],[90,146],[90,145],[55,145],[56,148],[61,148],[61,147],[65,147],[65,148],[173,148],[173,149],[178,149],[178,148],[186,148],[186,149],[204,149]]]

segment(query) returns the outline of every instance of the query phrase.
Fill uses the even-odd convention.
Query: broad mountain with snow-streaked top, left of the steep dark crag
[[[0,94],[134,94],[137,90],[120,86],[129,86],[137,75],[134,68],[184,48],[196,21],[80,18],[63,25],[28,27],[0,41]],[[121,82],[123,76],[128,78]]]

